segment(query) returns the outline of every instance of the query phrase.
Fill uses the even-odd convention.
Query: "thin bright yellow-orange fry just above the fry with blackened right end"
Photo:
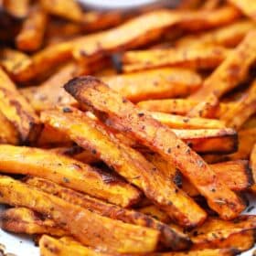
[[[221,129],[225,128],[225,123],[207,118],[189,118],[181,115],[175,115],[165,112],[148,112],[150,115],[160,123],[164,123],[170,128],[175,129]]]

